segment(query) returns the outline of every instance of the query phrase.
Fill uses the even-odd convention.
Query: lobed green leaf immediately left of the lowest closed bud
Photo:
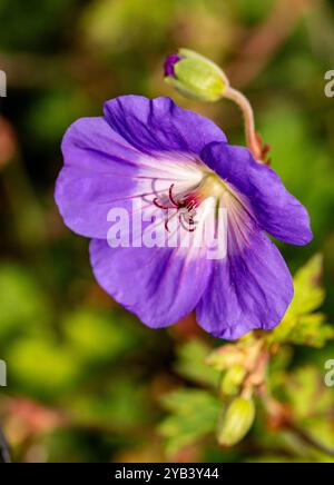
[[[164,397],[163,405],[170,413],[159,426],[168,454],[175,454],[216,429],[220,403],[205,390],[175,390]]]

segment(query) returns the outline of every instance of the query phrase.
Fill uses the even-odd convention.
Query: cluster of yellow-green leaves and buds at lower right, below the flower
[[[169,416],[160,426],[160,433],[166,439],[167,451],[176,453],[214,433],[220,446],[235,446],[245,438],[255,418],[262,420],[264,416],[272,427],[295,435],[296,449],[293,453],[296,459],[307,453],[310,459],[313,458],[313,448],[304,451],[305,442],[310,446],[313,435],[321,439],[320,447],[334,445],[331,422],[333,390],[325,387],[315,366],[296,366],[291,370],[292,344],[323,347],[327,340],[334,339],[333,327],[324,324],[325,317],[316,319],[318,314],[312,313],[325,297],[321,275],[322,258],[317,255],[296,273],[294,299],[283,321],[273,331],[250,333],[236,344],[224,345],[210,353],[200,340],[190,340],[184,346],[177,368],[183,376],[196,384],[209,385],[210,389],[180,388],[164,397]],[[206,366],[215,370],[216,379],[219,373],[220,384],[212,386],[212,376],[203,370]],[[194,368],[199,368],[200,373]],[[206,410],[197,416],[200,400],[206,403],[203,405]],[[259,407],[263,407],[263,413],[256,416]],[[302,425],[302,430],[298,425]],[[304,429],[312,435],[308,436]],[[254,433],[252,439],[261,445],[263,435]],[[318,452],[318,443],[313,445]],[[320,456],[318,453],[315,455]],[[321,454],[322,458],[323,455],[326,453]],[[334,447],[332,458],[334,462]]]

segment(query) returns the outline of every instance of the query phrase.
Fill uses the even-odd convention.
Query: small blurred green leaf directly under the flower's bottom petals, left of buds
[[[206,363],[209,353],[210,348],[203,342],[190,340],[178,350],[176,370],[196,384],[216,387],[220,373]]]

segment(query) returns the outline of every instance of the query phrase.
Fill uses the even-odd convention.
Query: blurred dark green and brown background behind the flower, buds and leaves
[[[175,372],[176,356],[194,335],[218,343],[191,317],[149,330],[97,286],[88,241],[55,207],[59,147],[69,123],[99,116],[106,99],[124,93],[171,96],[244,143],[232,103],[200,105],[164,83],[167,53],[188,47],[208,56],[249,97],[274,169],[310,210],[314,241],[279,248],[292,271],[324,255],[323,310],[334,321],[334,98],[324,95],[324,75],[334,69],[334,1],[0,0],[0,24],[8,77],[0,99],[0,358],[8,364],[0,416],[13,458],[258,459],[261,427],[233,452],[209,439],[166,454],[156,430],[161,396],[188,384]],[[327,358],[333,344],[301,346],[292,369],[313,365],[322,375]]]

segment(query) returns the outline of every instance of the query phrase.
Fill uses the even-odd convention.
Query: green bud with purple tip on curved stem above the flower
[[[217,65],[189,49],[167,57],[165,80],[185,97],[199,101],[218,101],[229,86]]]

